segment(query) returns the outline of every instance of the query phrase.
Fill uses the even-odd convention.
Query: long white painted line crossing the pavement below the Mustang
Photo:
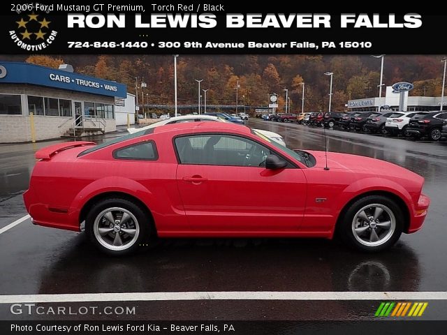
[[[447,300],[447,292],[135,292],[65,295],[0,295],[0,304],[25,302],[177,300]]]

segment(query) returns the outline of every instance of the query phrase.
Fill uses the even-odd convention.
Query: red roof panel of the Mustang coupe
[[[194,130],[200,132],[210,131],[214,132],[237,132],[237,133],[251,133],[251,129],[247,126],[242,126],[240,124],[230,124],[226,122],[186,122],[182,124],[166,124],[163,127],[154,128],[154,134],[156,133],[166,133],[171,131],[184,131],[184,130]]]

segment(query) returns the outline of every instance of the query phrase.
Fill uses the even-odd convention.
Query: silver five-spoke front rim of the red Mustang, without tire
[[[383,204],[368,204],[361,208],[352,221],[352,232],[364,246],[380,246],[388,241],[396,229],[393,211]]]

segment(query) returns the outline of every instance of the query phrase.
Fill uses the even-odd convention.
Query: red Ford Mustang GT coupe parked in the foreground
[[[291,150],[244,126],[173,124],[55,144],[24,193],[37,225],[122,255],[151,237],[324,237],[381,251],[423,225],[423,177],[373,158]]]

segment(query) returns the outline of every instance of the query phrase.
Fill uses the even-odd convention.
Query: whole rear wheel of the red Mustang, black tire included
[[[113,227],[112,223],[105,218],[109,212],[112,214],[111,218],[115,221]],[[121,217],[120,213],[122,213]],[[118,221],[121,221],[124,213],[130,218],[121,224]],[[120,227],[115,228],[116,225]],[[91,243],[102,253],[113,256],[129,255],[137,251],[143,241],[148,241],[151,236],[151,227],[152,221],[147,210],[142,208],[140,204],[123,198],[106,198],[97,202],[91,207],[85,219],[85,232]],[[101,234],[99,229],[103,231],[112,230],[106,234]],[[119,231],[117,232],[115,229],[119,229]],[[124,229],[126,232],[124,232]],[[128,233],[134,230],[135,234]],[[117,239],[117,234],[119,234],[119,239]],[[116,245],[115,240],[117,240]],[[119,245],[119,242],[122,245]]]

